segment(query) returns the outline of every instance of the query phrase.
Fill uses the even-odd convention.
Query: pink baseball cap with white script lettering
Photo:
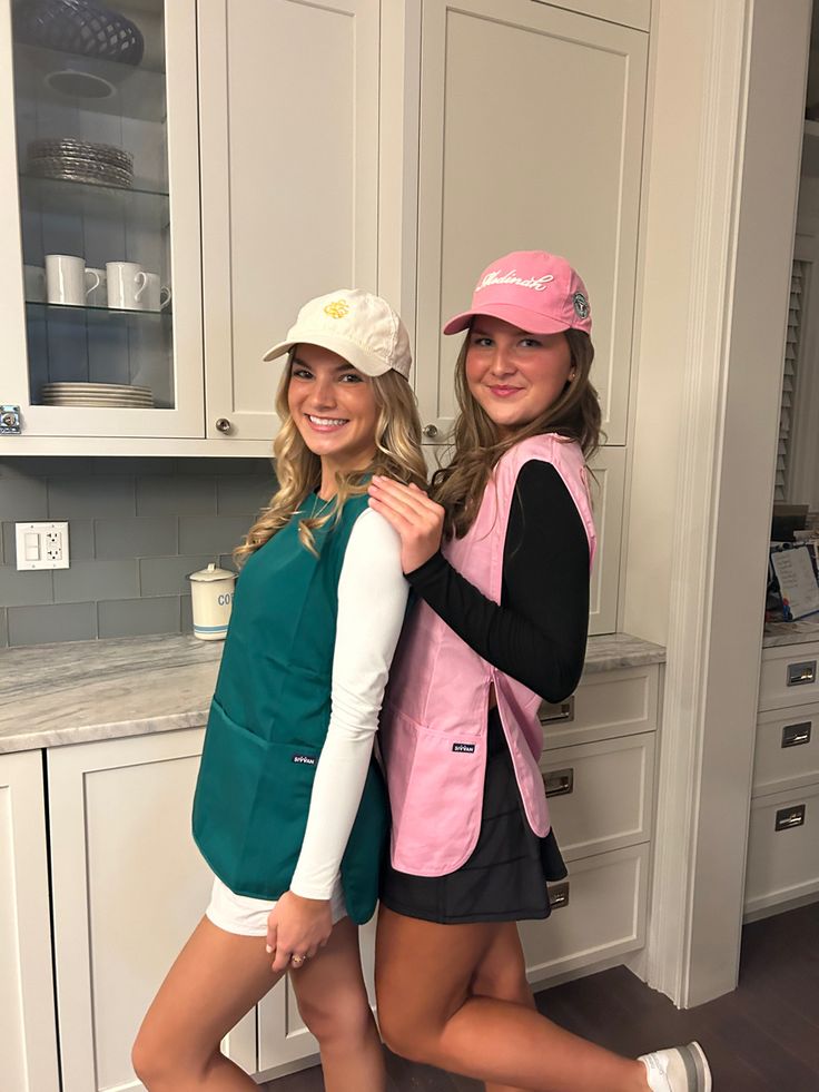
[[[565,258],[545,250],[513,250],[487,265],[472,307],[451,318],[444,333],[466,329],[475,315],[503,318],[532,334],[592,331],[585,285]]]

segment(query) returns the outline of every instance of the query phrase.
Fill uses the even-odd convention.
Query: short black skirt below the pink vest
[[[546,881],[566,866],[550,830],[539,838],[526,820],[497,709],[491,709],[481,833],[470,858],[446,876],[413,876],[387,863],[381,901],[405,917],[456,925],[549,917]]]

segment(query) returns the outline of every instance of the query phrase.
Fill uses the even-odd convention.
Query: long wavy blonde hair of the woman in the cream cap
[[[289,523],[298,514],[305,500],[322,483],[322,461],[302,439],[287,404],[287,388],[296,348],[294,346],[287,355],[287,366],[276,392],[276,411],[282,421],[282,429],[273,444],[278,489],[245,535],[241,545],[234,550],[234,559],[239,565]],[[330,521],[337,523],[345,501],[366,493],[367,479],[372,474],[385,474],[406,484],[414,482],[422,488],[426,485],[426,464],[421,452],[421,422],[412,387],[402,375],[392,370],[384,375],[369,377],[368,382],[373,386],[378,411],[375,424],[376,453],[368,466],[336,474],[338,492],[326,511],[320,515],[299,520],[299,541],[316,555],[315,531]]]

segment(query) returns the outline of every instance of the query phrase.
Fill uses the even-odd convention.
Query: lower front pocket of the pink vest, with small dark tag
[[[393,867],[416,876],[454,872],[481,833],[484,736],[455,736],[391,710],[386,754]]]

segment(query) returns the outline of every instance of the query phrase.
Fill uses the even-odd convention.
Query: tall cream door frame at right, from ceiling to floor
[[[685,1007],[739,971],[810,0],[653,7],[624,618],[668,646],[640,971]]]

